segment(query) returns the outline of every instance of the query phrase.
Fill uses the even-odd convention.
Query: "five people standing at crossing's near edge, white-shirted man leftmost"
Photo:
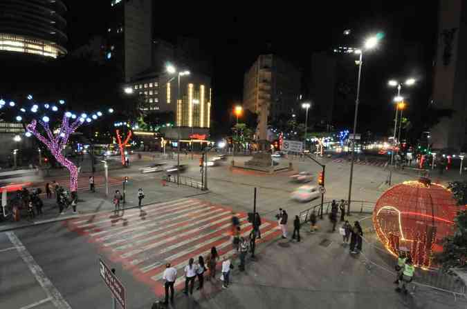
[[[198,279],[198,287],[196,290],[202,290],[204,285],[204,273],[209,270],[209,275],[206,277],[208,281],[211,279],[215,279],[216,277],[216,266],[217,261],[219,261],[220,257],[217,253],[216,247],[212,247],[206,259],[204,259],[201,255],[198,257],[196,263],[194,259],[191,258],[188,261],[187,266],[183,269],[183,273],[185,275],[185,295],[193,295],[194,290],[194,281],[196,278]],[[222,277],[223,280],[222,288],[228,288],[230,282],[230,270],[233,269],[233,265],[230,262],[230,259],[226,258],[222,262]],[[165,271],[163,274],[163,280],[165,281],[165,304],[170,301],[174,302],[174,283],[177,278],[177,270],[174,268],[170,263],[165,264]]]

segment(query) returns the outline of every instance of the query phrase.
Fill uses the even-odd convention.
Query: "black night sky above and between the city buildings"
[[[346,43],[357,45],[366,34],[384,32],[378,50],[367,53],[363,68],[362,128],[386,132],[393,114],[394,89],[387,80],[415,76],[419,82],[407,93],[409,118],[416,123],[418,110],[430,99],[437,39],[437,1],[313,1],[307,6],[264,3],[222,3],[219,6],[185,6],[155,9],[154,37],[176,42],[176,37],[200,39],[203,55],[212,59],[214,119],[228,119],[233,103],[242,99],[243,75],[258,54],[273,52],[295,63],[308,87],[313,51],[331,50]],[[318,3],[317,3],[318,2]],[[70,50],[106,29],[104,15],[110,1],[66,1]],[[353,30],[351,37],[342,31]],[[349,61],[354,59],[349,58]],[[306,93],[306,89],[304,89]],[[386,119],[387,122],[381,118]],[[349,121],[351,122],[351,121]]]

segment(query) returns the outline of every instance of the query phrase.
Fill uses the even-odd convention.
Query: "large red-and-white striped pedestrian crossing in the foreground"
[[[247,214],[239,217],[241,235],[247,237],[252,230]],[[101,250],[114,263],[149,286],[156,295],[163,295],[163,271],[169,262],[178,270],[175,286],[183,288],[183,268],[190,258],[205,257],[215,246],[222,259],[233,257],[232,210],[225,206],[184,198],[144,206],[143,209],[125,210],[122,215],[98,214],[66,221],[66,226],[89,240],[98,243]],[[279,236],[275,221],[263,220],[262,239],[268,241]]]

